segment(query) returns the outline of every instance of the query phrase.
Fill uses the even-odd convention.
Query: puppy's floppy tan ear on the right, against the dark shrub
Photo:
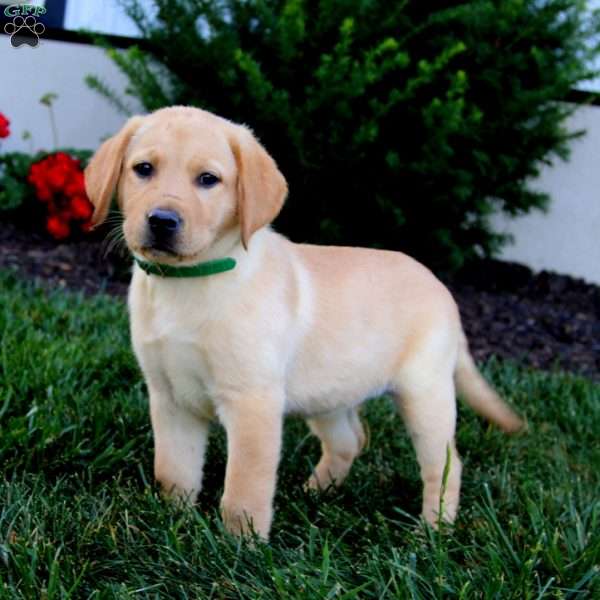
[[[231,148],[238,169],[238,213],[242,244],[246,250],[255,231],[279,214],[287,196],[287,182],[275,161],[258,143],[252,132],[236,127]]]

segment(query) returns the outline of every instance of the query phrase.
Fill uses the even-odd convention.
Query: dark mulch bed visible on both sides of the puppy
[[[123,297],[129,269],[103,232],[57,244],[0,221],[0,268],[52,287]],[[486,260],[444,282],[460,307],[477,360],[495,355],[600,381],[600,287],[523,265]]]

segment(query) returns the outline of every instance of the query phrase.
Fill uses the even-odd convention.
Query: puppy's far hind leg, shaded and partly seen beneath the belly
[[[365,445],[358,409],[345,408],[312,417],[307,419],[307,423],[321,440],[322,455],[306,487],[325,490],[330,485],[341,485]]]

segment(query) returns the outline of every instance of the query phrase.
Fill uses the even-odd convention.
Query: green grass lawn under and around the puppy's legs
[[[1,599],[600,597],[597,384],[486,365],[530,431],[461,409],[462,509],[440,533],[417,519],[417,465],[386,399],[330,496],[302,491],[319,450],[289,419],[272,540],[252,545],[218,519],[218,426],[198,507],[160,499],[122,302],[4,273],[0,331]]]

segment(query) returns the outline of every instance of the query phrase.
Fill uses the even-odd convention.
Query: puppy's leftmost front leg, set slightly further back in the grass
[[[202,486],[208,421],[175,404],[167,389],[149,391],[154,476],[165,495],[194,502]]]

